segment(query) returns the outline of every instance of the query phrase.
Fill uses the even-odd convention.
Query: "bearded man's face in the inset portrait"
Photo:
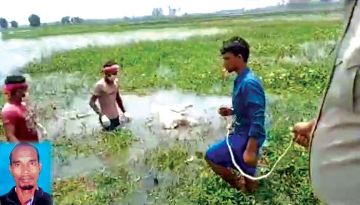
[[[16,187],[22,190],[31,190],[38,185],[41,163],[37,151],[30,146],[17,147],[12,152],[9,166]]]

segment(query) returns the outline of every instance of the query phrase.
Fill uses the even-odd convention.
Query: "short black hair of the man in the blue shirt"
[[[250,46],[246,40],[240,36],[231,37],[223,42],[223,48],[220,49],[220,53],[224,55],[230,52],[234,55],[241,55],[244,61],[247,63],[247,59],[250,54]]]

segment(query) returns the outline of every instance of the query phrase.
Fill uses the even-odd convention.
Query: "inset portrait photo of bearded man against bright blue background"
[[[52,204],[51,144],[0,144],[0,205]]]

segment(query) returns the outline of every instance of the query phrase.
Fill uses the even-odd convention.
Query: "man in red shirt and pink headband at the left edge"
[[[9,142],[39,142],[37,124],[23,101],[28,85],[21,75],[5,79],[4,94],[7,103],[2,110],[3,129]]]

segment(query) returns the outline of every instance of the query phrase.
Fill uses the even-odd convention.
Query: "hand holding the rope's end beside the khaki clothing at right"
[[[293,127],[295,142],[303,147],[309,147],[310,135],[314,125],[315,120],[295,124]]]

